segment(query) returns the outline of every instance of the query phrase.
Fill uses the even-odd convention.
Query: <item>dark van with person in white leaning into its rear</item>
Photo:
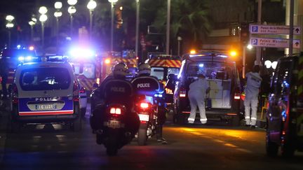
[[[241,86],[236,62],[227,52],[213,51],[183,56],[182,66],[175,80],[174,122],[179,124],[187,122],[191,110],[188,98],[189,85],[201,73],[206,76],[210,87],[206,97],[208,120],[222,120],[239,125],[243,115],[240,112]]]

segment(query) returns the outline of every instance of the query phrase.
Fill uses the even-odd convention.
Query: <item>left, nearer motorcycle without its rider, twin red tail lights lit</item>
[[[118,150],[133,139],[126,129],[127,108],[122,104],[108,104],[102,128],[95,131],[98,144],[107,148],[107,155],[114,156]]]

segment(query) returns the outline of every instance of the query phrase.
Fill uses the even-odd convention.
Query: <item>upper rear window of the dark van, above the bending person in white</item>
[[[222,62],[194,62],[187,67],[187,77],[196,77],[203,74],[208,79],[234,78],[234,67]]]

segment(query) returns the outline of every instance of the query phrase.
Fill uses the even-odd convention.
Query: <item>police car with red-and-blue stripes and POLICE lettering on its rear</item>
[[[27,123],[65,123],[81,130],[79,83],[62,56],[41,57],[43,62],[20,64],[11,94],[11,129]],[[37,59],[39,61],[39,59]]]

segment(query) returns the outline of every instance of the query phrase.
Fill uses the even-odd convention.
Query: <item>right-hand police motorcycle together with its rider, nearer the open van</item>
[[[140,76],[132,80],[135,91],[135,111],[140,118],[140,127],[137,133],[139,146],[146,145],[147,139],[157,134],[159,129],[159,106],[163,104],[161,102],[163,90],[161,90],[159,80],[149,76],[150,69],[147,69],[146,72],[146,70],[143,70],[146,69],[144,66],[144,64],[139,66]]]

